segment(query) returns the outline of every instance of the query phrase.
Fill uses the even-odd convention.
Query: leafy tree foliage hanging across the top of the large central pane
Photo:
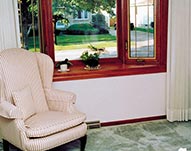
[[[56,22],[58,20],[68,21],[67,15],[77,15],[78,11],[86,10],[88,12],[97,13],[101,10],[107,11],[111,15],[115,15],[113,8],[115,8],[116,0],[53,0],[53,18],[54,18],[54,31],[55,31],[55,44],[57,44]],[[103,15],[102,15],[103,16]],[[94,17],[95,18],[95,17]],[[105,21],[105,19],[104,19]],[[94,22],[95,23],[95,22]],[[99,27],[102,32],[107,32],[105,24]]]

